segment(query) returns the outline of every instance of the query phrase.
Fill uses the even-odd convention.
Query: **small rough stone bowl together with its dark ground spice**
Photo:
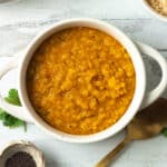
[[[45,167],[42,153],[29,141],[6,146],[0,155],[0,167]]]

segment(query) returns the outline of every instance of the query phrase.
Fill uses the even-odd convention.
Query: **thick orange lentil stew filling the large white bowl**
[[[135,85],[126,49],[107,33],[85,27],[45,40],[27,71],[35,110],[51,127],[72,135],[95,134],[118,121]]]

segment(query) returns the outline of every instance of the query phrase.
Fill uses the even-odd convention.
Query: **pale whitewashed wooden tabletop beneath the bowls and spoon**
[[[141,0],[20,0],[0,6],[0,66],[9,61],[3,56],[14,56],[23,50],[32,38],[46,27],[73,17],[91,17],[112,23],[128,33],[157,48],[167,58],[167,23],[154,19],[143,7]],[[147,59],[148,88],[159,80],[158,66]],[[0,82],[7,94],[17,88],[16,71]],[[167,92],[164,94],[167,97]],[[0,125],[0,148],[11,140],[26,139],[43,150],[47,167],[92,167],[124,138],[124,131],[107,140],[76,145],[58,141],[33,125],[23,129],[8,129]],[[167,138],[163,136],[135,141],[116,160],[112,167],[166,167]]]

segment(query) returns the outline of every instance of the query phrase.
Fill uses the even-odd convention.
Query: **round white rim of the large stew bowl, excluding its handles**
[[[52,33],[62,30],[62,27],[67,26],[65,29],[69,28],[68,24],[75,24],[78,23],[80,24],[80,27],[84,27],[82,23],[89,23],[89,24],[95,24],[95,27],[98,30],[105,31],[105,29],[108,29],[108,31],[112,31],[112,33],[117,33],[122,38],[122,41],[125,41],[125,43],[122,43],[122,41],[120,41],[119,39],[117,39],[115,36],[115,38],[128,50],[128,52],[134,52],[134,59],[130,53],[130,57],[132,59],[132,63],[134,60],[136,62],[135,70],[137,70],[136,72],[138,72],[138,75],[136,75],[136,89],[135,89],[135,94],[134,94],[134,98],[129,105],[129,108],[126,110],[125,115],[111,127],[99,131],[97,134],[91,134],[91,135],[70,135],[63,131],[59,131],[55,128],[52,128],[51,126],[49,126],[48,124],[46,124],[42,118],[40,116],[38,116],[38,114],[35,111],[35,109],[32,108],[28,95],[27,95],[27,89],[26,89],[26,72],[27,72],[27,67],[29,63],[29,60],[31,59],[31,56],[33,55],[33,52],[36,51],[36,49],[39,47],[39,45],[46,40],[49,36],[51,36]],[[77,27],[71,26],[71,27]],[[88,27],[88,26],[86,26]],[[91,27],[91,28],[95,28]],[[106,30],[107,32],[107,30]],[[107,32],[109,33],[109,32]],[[111,36],[111,35],[110,35]],[[129,45],[129,47],[127,46]],[[130,50],[131,49],[131,50]],[[138,67],[138,69],[137,69]],[[22,79],[21,79],[22,78]],[[23,108],[29,112],[29,115],[33,118],[35,124],[40,127],[41,129],[43,129],[47,134],[50,134],[51,136],[53,136],[57,139],[63,140],[63,141],[69,141],[69,143],[79,143],[79,144],[86,144],[86,143],[95,143],[95,141],[99,141],[99,140],[104,140],[106,138],[109,138],[110,136],[116,135],[117,132],[119,132],[120,130],[122,130],[127,124],[132,119],[132,117],[136,115],[137,110],[140,108],[141,102],[144,100],[145,97],[145,92],[146,92],[146,70],[145,70],[145,66],[144,66],[144,60],[141,58],[141,55],[138,50],[138,48],[136,47],[136,45],[118,28],[116,28],[115,26],[110,24],[110,23],[106,23],[105,21],[100,21],[97,19],[89,19],[89,18],[76,18],[76,19],[67,19],[63,21],[59,21],[55,24],[52,24],[51,27],[47,28],[47,30],[42,31],[39,36],[37,36],[32,42],[29,45],[29,47],[27,48],[26,55],[24,57],[22,57],[21,63],[19,66],[19,78],[18,78],[18,82],[19,82],[19,95],[20,95],[20,99],[21,99],[21,104],[23,106]],[[138,87],[138,89],[137,89]]]

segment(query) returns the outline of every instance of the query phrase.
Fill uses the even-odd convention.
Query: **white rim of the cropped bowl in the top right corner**
[[[150,7],[150,4],[148,3],[147,0],[141,0],[144,3],[144,7],[157,19],[161,20],[161,21],[166,21],[167,22],[167,17],[160,14],[158,11],[156,11],[154,8]]]

